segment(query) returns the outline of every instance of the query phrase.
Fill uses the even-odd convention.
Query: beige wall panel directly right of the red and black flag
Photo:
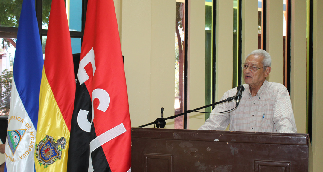
[[[123,0],[121,23],[130,118],[132,126],[140,126],[151,122],[151,0]]]

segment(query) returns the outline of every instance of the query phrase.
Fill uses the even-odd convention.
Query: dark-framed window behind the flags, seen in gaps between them
[[[15,45],[18,32],[19,18],[23,1],[14,0],[0,0],[0,40],[2,48],[0,48],[0,71],[2,72],[3,79],[12,79],[13,61],[15,58]],[[35,0],[36,3],[36,15],[38,19],[38,25],[40,28],[40,38],[42,42],[43,54],[45,53],[47,29],[49,22],[49,13],[51,7],[51,0]],[[69,30],[71,35],[72,53],[79,54],[81,52],[81,42],[83,37],[83,30],[85,25],[85,10],[86,1],[83,0],[66,0],[66,11],[69,22]],[[76,58],[75,58],[76,57]],[[80,56],[73,56],[74,60],[79,60]],[[78,58],[78,59],[77,59]],[[11,72],[10,72],[11,71]],[[8,77],[10,76],[11,77]],[[2,96],[1,106],[7,107],[7,109],[0,108],[0,115],[8,115],[8,109],[10,106],[10,94],[2,82]],[[7,100],[9,98],[9,100]],[[9,103],[8,103],[9,102]]]

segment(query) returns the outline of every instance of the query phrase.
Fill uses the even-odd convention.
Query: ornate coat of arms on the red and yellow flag
[[[39,144],[36,144],[36,158],[39,164],[48,167],[55,161],[62,158],[62,149],[65,149],[66,139],[61,137],[55,142],[55,138],[51,136],[46,136]]]

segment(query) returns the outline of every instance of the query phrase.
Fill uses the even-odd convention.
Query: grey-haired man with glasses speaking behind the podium
[[[255,50],[241,64],[245,91],[241,100],[221,103],[199,129],[230,131],[296,133],[296,124],[290,97],[286,87],[268,82],[271,57],[265,50]],[[237,89],[224,93],[221,100],[234,96]],[[236,105],[238,104],[238,105]],[[234,107],[237,108],[234,109]],[[224,112],[228,111],[229,112]],[[219,113],[224,112],[224,113]]]

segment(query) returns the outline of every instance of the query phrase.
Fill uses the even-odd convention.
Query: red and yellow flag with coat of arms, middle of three
[[[66,171],[75,76],[64,0],[52,1],[39,98],[36,171]]]

